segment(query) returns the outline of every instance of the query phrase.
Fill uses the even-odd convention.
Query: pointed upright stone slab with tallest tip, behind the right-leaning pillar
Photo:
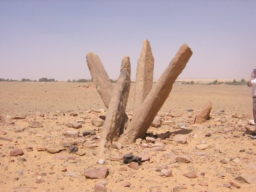
[[[146,39],[138,60],[136,86],[134,94],[133,115],[152,89],[154,74],[154,57],[149,41]]]

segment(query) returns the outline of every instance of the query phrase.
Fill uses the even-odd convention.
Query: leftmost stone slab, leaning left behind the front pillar
[[[98,90],[105,106],[108,108],[113,92],[113,86],[109,80],[108,74],[100,58],[95,53],[89,52],[86,55],[86,62],[94,85]]]

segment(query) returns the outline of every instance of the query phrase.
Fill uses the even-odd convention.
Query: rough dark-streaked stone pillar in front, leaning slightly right
[[[110,147],[112,141],[116,141],[120,135],[125,108],[130,92],[130,58],[125,56],[122,60],[120,76],[113,90],[110,100],[106,120],[102,128],[100,139],[100,152],[103,152],[104,147]]]

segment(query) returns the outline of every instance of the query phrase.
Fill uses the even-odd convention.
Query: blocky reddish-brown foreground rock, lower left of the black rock
[[[84,176],[86,179],[105,179],[108,176],[108,167],[84,169]]]

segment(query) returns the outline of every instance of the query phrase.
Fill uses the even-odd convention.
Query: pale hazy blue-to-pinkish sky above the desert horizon
[[[186,42],[179,78],[250,78],[256,68],[255,0],[0,0],[0,78],[91,78],[86,54],[116,79],[132,75],[150,41],[159,78]]]

